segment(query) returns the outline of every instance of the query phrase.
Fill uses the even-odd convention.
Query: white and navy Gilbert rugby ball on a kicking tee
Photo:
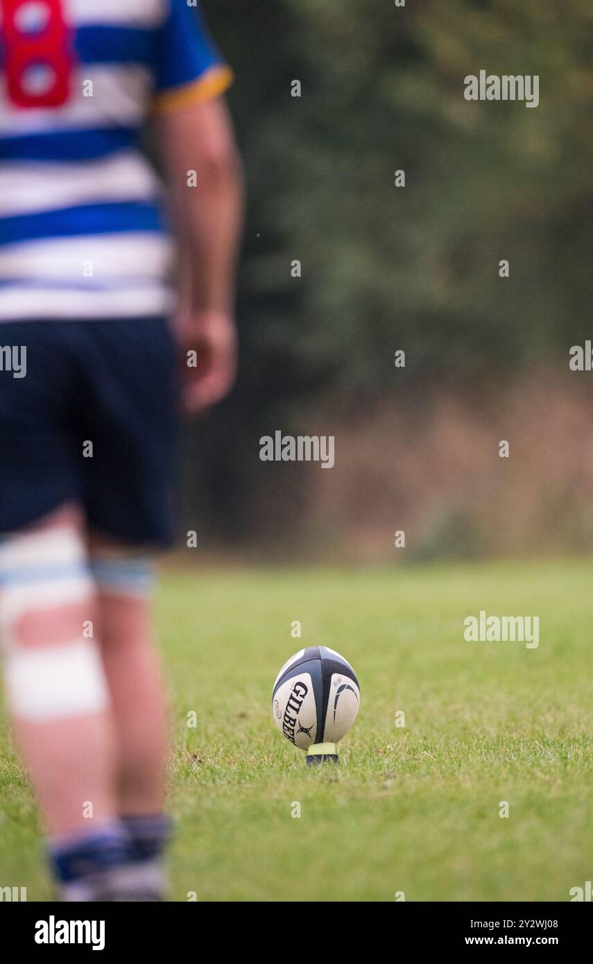
[[[274,683],[272,714],[286,739],[307,750],[307,764],[337,763],[337,743],[361,705],[352,666],[327,646],[309,646],[284,663]]]

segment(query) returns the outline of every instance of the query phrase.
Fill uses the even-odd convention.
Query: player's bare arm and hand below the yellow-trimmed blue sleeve
[[[162,112],[155,125],[179,252],[178,332],[184,354],[198,353],[198,366],[185,366],[185,404],[199,411],[223,398],[234,380],[241,164],[220,96]]]

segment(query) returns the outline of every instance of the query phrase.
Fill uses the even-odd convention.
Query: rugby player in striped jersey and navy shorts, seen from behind
[[[67,901],[166,896],[153,558],[179,411],[233,381],[242,217],[196,6],[0,0],[0,648]]]

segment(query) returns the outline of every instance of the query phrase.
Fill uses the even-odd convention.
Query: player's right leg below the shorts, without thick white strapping
[[[139,865],[139,883],[165,889],[162,856],[167,712],[151,621],[152,560],[94,536],[101,653],[118,733],[118,802]]]

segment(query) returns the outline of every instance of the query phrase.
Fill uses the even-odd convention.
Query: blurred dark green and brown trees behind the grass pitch
[[[568,369],[592,331],[593,4],[203,7],[249,215],[239,382],[187,429],[183,531],[291,559],[390,558],[394,529],[412,556],[593,548],[592,376]],[[539,106],[466,101],[480,69],[538,74]],[[261,463],[277,429],[335,435],[336,468]]]

